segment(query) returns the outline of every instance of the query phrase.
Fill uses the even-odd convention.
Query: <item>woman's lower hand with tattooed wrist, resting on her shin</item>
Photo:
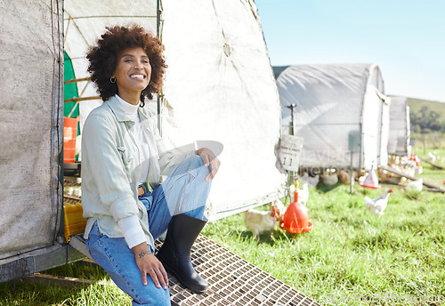
[[[143,286],[147,286],[147,274],[158,288],[162,286],[164,289],[168,285],[168,277],[166,270],[155,255],[151,254],[149,246],[146,242],[133,247],[134,255],[136,256],[136,265],[142,273]]]

